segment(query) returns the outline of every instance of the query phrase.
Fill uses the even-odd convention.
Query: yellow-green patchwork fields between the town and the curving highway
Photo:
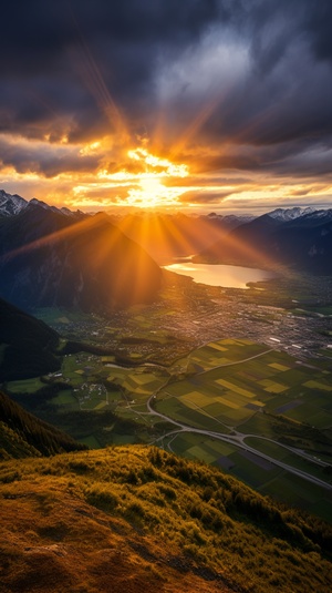
[[[264,352],[266,350],[266,352]],[[222,340],[197,349],[187,357],[199,370],[190,369],[185,379],[167,386],[158,396],[157,409],[172,403],[172,416],[179,409],[193,409],[201,416],[200,425],[210,427],[210,417],[237,428],[258,412],[281,415],[321,429],[332,427],[332,375],[319,367],[299,365],[284,352],[248,344]],[[218,357],[219,355],[219,357]],[[226,362],[225,359],[229,360]],[[180,364],[186,366],[186,359]],[[162,406],[162,407],[160,407]]]

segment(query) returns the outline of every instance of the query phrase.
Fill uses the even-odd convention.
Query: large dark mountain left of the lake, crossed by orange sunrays
[[[23,309],[101,311],[153,300],[162,272],[107,216],[29,205],[0,219],[0,296]]]

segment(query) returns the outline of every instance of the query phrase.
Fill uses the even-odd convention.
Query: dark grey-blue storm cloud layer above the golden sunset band
[[[326,173],[331,0],[13,0],[1,20],[3,133],[79,142],[123,117],[152,135],[163,109],[166,154],[181,132],[179,156],[215,150],[201,172],[299,173],[311,154]]]

